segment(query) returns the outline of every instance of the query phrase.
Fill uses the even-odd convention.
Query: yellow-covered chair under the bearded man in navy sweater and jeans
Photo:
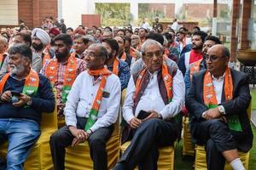
[[[41,136],[34,144],[29,156],[27,157],[24,168],[28,170],[49,170],[53,169],[51,154],[49,149],[49,137],[57,129],[57,110],[52,113],[42,113],[40,124]],[[7,153],[8,142],[1,144],[0,156],[5,158]]]

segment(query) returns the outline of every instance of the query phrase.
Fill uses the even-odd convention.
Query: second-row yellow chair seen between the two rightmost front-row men
[[[183,156],[195,156],[195,146],[191,142],[189,117],[183,117]]]

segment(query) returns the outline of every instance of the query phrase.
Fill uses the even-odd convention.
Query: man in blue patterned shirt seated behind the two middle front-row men
[[[127,88],[131,73],[129,65],[117,57],[119,52],[118,42],[115,39],[106,38],[102,40],[102,46],[108,51],[108,61],[106,63],[108,70],[119,77],[122,90]]]

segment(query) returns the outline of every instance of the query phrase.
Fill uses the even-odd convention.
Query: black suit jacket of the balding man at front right
[[[206,70],[194,74],[191,88],[186,98],[186,107],[189,110],[192,138],[193,133],[195,133],[197,123],[205,121],[205,119],[201,117],[201,114],[208,110],[203,100],[203,80],[205,73]],[[233,99],[225,101],[223,90],[222,102],[220,105],[224,106],[227,116],[237,115],[239,117],[242,134],[245,138],[241,141],[237,141],[237,144],[240,150],[247,151],[250,150],[253,145],[253,132],[247,115],[247,107],[251,100],[250,89],[247,83],[247,75],[245,73],[231,69],[231,76],[233,81]],[[236,134],[235,131],[232,133]]]

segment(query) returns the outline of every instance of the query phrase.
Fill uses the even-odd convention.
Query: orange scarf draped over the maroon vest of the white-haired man
[[[135,94],[134,94],[134,99],[136,99],[136,96],[141,91],[141,86],[142,86],[143,78],[145,76],[146,71],[148,71],[146,68],[143,69],[143,71],[141,71],[140,75],[137,77],[137,81],[136,81],[136,85],[135,85],[136,90],[135,90]],[[163,77],[163,80],[164,80],[164,83],[166,86],[168,102],[170,103],[170,102],[172,102],[172,97],[173,97],[172,76],[169,74],[165,58],[163,59],[161,73],[162,73],[162,77]]]

